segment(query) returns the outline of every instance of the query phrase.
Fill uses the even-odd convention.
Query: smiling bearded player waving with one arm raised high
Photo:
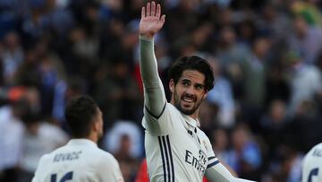
[[[214,87],[208,62],[183,56],[170,68],[171,103],[157,74],[154,35],[165,23],[160,4],[142,7],[140,70],[144,84],[145,150],[148,175],[155,181],[246,181],[234,178],[216,158],[206,134],[199,129],[199,105]]]

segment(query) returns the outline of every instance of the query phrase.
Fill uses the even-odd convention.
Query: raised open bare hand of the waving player
[[[147,11],[146,11],[147,10]],[[161,5],[154,1],[147,4],[146,7],[142,7],[141,20],[140,20],[140,35],[148,39],[152,39],[153,36],[160,30],[165,24],[165,14],[161,16]]]

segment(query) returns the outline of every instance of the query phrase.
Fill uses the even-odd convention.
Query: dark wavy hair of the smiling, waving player
[[[169,79],[174,79],[177,84],[185,70],[195,70],[205,75],[205,89],[210,91],[214,88],[214,74],[208,62],[199,56],[182,56],[178,58],[169,69]]]

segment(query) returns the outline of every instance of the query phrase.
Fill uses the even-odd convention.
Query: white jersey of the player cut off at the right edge
[[[322,182],[322,143],[314,146],[304,157],[302,182]]]

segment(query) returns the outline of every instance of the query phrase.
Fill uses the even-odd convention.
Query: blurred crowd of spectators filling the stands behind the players
[[[202,130],[241,178],[298,182],[303,154],[322,142],[322,2],[159,0],[155,38],[167,68],[199,55],[216,85]],[[102,109],[99,145],[127,182],[144,159],[139,68],[145,0],[0,0],[0,181],[30,182],[39,158],[69,139],[67,100],[89,94]],[[140,181],[140,180],[137,180]]]

